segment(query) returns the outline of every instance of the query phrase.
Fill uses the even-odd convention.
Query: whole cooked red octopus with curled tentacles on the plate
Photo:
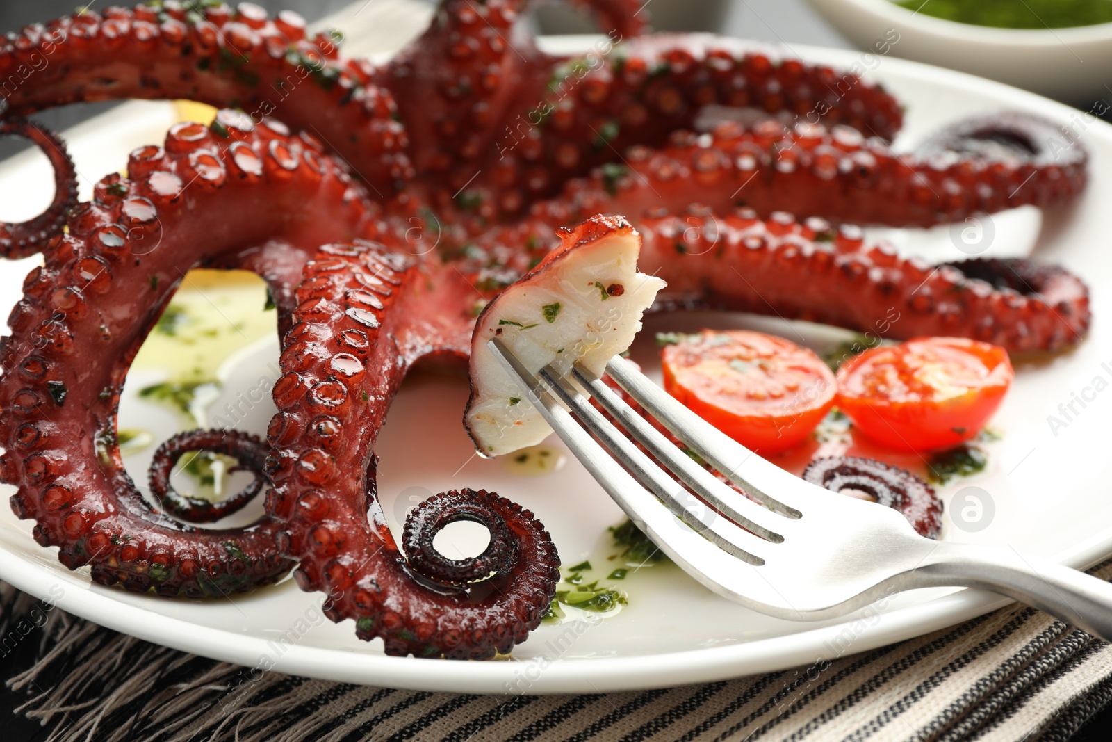
[[[407,523],[407,558],[378,502],[374,445],[414,363],[465,358],[483,303],[556,246],[556,228],[598,212],[642,233],[639,268],[668,281],[665,305],[1012,352],[1088,329],[1088,291],[1063,269],[930,266],[806,220],[926,226],[1064,202],[1084,185],[1084,149],[1050,152],[1033,117],[959,123],[900,156],[886,144],[900,106],[880,87],[737,40],[639,36],[629,0],[584,2],[613,32],[576,58],[533,43],[524,0],[446,0],[385,66],[341,58],[337,36],[292,13],[201,4],[87,10],[0,39],[0,80],[23,80],[6,90],[2,132],[39,144],[57,182],[46,214],[0,226],[4,256],[44,259],[0,346],[0,479],[36,540],[99,583],[219,595],[297,564],[330,617],[390,653],[481,657],[523,640],[558,580],[540,524],[458,489]],[[122,98],[239,110],[175,126],[73,206],[60,142],[22,119]],[[196,266],[252,270],[278,307],[274,488],[245,528],[171,517],[188,503],[157,511],[116,442],[131,358]],[[459,517],[497,548],[466,564],[430,554]]]

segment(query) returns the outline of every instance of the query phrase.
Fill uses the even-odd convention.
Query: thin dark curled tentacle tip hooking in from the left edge
[[[19,224],[0,221],[0,257],[22,258],[41,251],[46,241],[61,231],[66,212],[77,205],[77,171],[66,142],[49,129],[27,119],[9,119],[0,121],[0,137],[6,136],[29,139],[54,169],[54,197],[46,211]]]

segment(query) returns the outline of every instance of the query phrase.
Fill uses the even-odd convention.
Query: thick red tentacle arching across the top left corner
[[[77,101],[188,98],[278,116],[356,162],[381,194],[411,176],[405,128],[366,60],[338,60],[339,38],[308,37],[291,12],[258,6],[140,4],[85,10],[0,38],[0,80],[22,80],[7,116]],[[30,70],[30,72],[28,72]]]

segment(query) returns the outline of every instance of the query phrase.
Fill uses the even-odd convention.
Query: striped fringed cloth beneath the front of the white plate
[[[1112,578],[1112,562],[1093,573]],[[258,677],[47,612],[0,583],[0,663],[18,713],[51,742],[1054,741],[1112,699],[1112,647],[1024,606],[824,665],[537,698]]]

